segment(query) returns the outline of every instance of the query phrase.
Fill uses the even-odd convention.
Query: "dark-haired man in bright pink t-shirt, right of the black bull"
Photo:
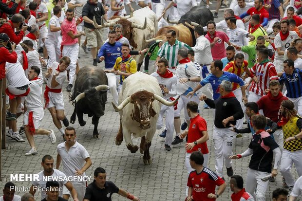
[[[207,22],[208,34],[205,36],[211,43],[211,54],[214,60],[222,59],[226,57],[225,42],[228,45],[231,43],[228,41],[229,38],[224,32],[216,31],[216,24],[214,21]]]

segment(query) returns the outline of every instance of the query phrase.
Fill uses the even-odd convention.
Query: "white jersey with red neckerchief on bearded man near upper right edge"
[[[281,48],[281,51],[285,51],[290,46],[290,43],[296,38],[298,38],[297,33],[294,31],[289,31],[288,37],[282,41],[279,33],[274,39],[275,47],[276,49]],[[283,60],[283,55],[278,55],[277,50],[275,52],[275,59]]]

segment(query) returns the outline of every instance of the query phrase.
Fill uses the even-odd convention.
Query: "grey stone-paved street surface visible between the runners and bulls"
[[[215,2],[211,5],[213,10]],[[223,12],[219,13],[220,18],[215,21],[222,20]],[[106,36],[104,36],[106,37]],[[90,54],[85,54],[80,50],[81,58],[79,59],[80,67],[87,64],[92,64]],[[104,63],[98,64],[102,68]],[[67,81],[65,82],[65,86]],[[45,87],[45,86],[44,86]],[[65,111],[68,119],[70,118],[74,107],[69,102],[68,93],[63,89]],[[141,201],[183,201],[186,198],[186,184],[188,173],[185,167],[185,143],[177,146],[172,146],[172,151],[166,152],[164,150],[164,139],[158,134],[161,130],[157,130],[152,145],[150,148],[153,163],[151,165],[144,165],[142,155],[137,152],[135,154],[125,146],[123,142],[121,146],[115,146],[115,135],[119,127],[119,115],[113,110],[111,105],[112,96],[108,95],[105,115],[100,118],[98,130],[100,133],[99,139],[94,139],[91,118],[87,115],[84,120],[87,122],[85,127],[80,127],[77,119],[74,126],[76,128],[77,141],[86,147],[92,159],[92,166],[86,171],[87,176],[93,176],[96,167],[103,167],[107,171],[107,180],[113,181],[118,187],[126,189],[128,192],[138,196]],[[201,106],[203,103],[201,104]],[[208,147],[210,150],[210,157],[208,167],[215,170],[214,147],[212,146],[212,125],[213,125],[213,110],[201,109],[201,115],[207,120],[209,140]],[[23,116],[22,116],[23,117]],[[22,118],[21,117],[21,118]],[[18,126],[20,126],[22,119],[20,118]],[[181,117],[184,119],[183,115]],[[51,115],[48,110],[45,110],[45,116],[41,124],[42,128],[54,129],[57,135],[57,144],[62,142],[60,133],[55,128]],[[25,136],[23,135],[23,138]],[[242,153],[246,150],[250,141],[250,134],[245,134],[243,138],[238,138],[235,143],[234,153]],[[28,142],[16,143],[6,138],[8,148],[2,150],[2,181],[0,188],[6,182],[10,181],[10,174],[37,174],[42,170],[41,159],[44,155],[49,154],[55,158],[57,155],[57,144],[51,145],[48,137],[35,136],[35,142],[38,147],[38,155],[26,157],[24,154],[30,149]],[[134,139],[133,143],[139,145],[139,139]],[[247,166],[249,157],[233,162],[233,169],[235,174],[240,174],[246,179]],[[59,168],[60,170],[62,167]],[[294,177],[297,179],[295,168],[292,168]],[[226,169],[224,169],[226,175]],[[225,176],[227,183],[229,178]],[[92,181],[91,181],[92,182]],[[17,187],[28,187],[24,189],[25,192],[31,186],[30,182],[14,182]],[[275,183],[269,183],[267,189],[266,200],[271,200],[272,191],[281,187],[281,174],[279,172]],[[23,190],[17,191],[16,194],[23,195]],[[218,199],[221,201],[230,201],[231,192],[227,185],[224,194]],[[36,194],[39,200],[39,194]],[[113,194],[113,201],[125,201],[126,198]]]

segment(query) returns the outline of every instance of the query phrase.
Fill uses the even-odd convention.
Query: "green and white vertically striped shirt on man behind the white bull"
[[[168,42],[165,42],[158,50],[157,56],[166,58],[169,61],[169,67],[176,67],[178,65],[177,53],[181,48],[186,48],[187,50],[192,49],[186,43],[180,42],[176,39],[174,45],[170,45]]]

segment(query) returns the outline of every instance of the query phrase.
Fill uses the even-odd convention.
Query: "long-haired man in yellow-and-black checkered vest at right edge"
[[[284,149],[281,157],[280,172],[291,191],[295,180],[290,173],[295,164],[299,177],[302,176],[302,118],[297,115],[295,105],[290,100],[283,100],[280,106],[282,119],[278,123],[284,134]]]

